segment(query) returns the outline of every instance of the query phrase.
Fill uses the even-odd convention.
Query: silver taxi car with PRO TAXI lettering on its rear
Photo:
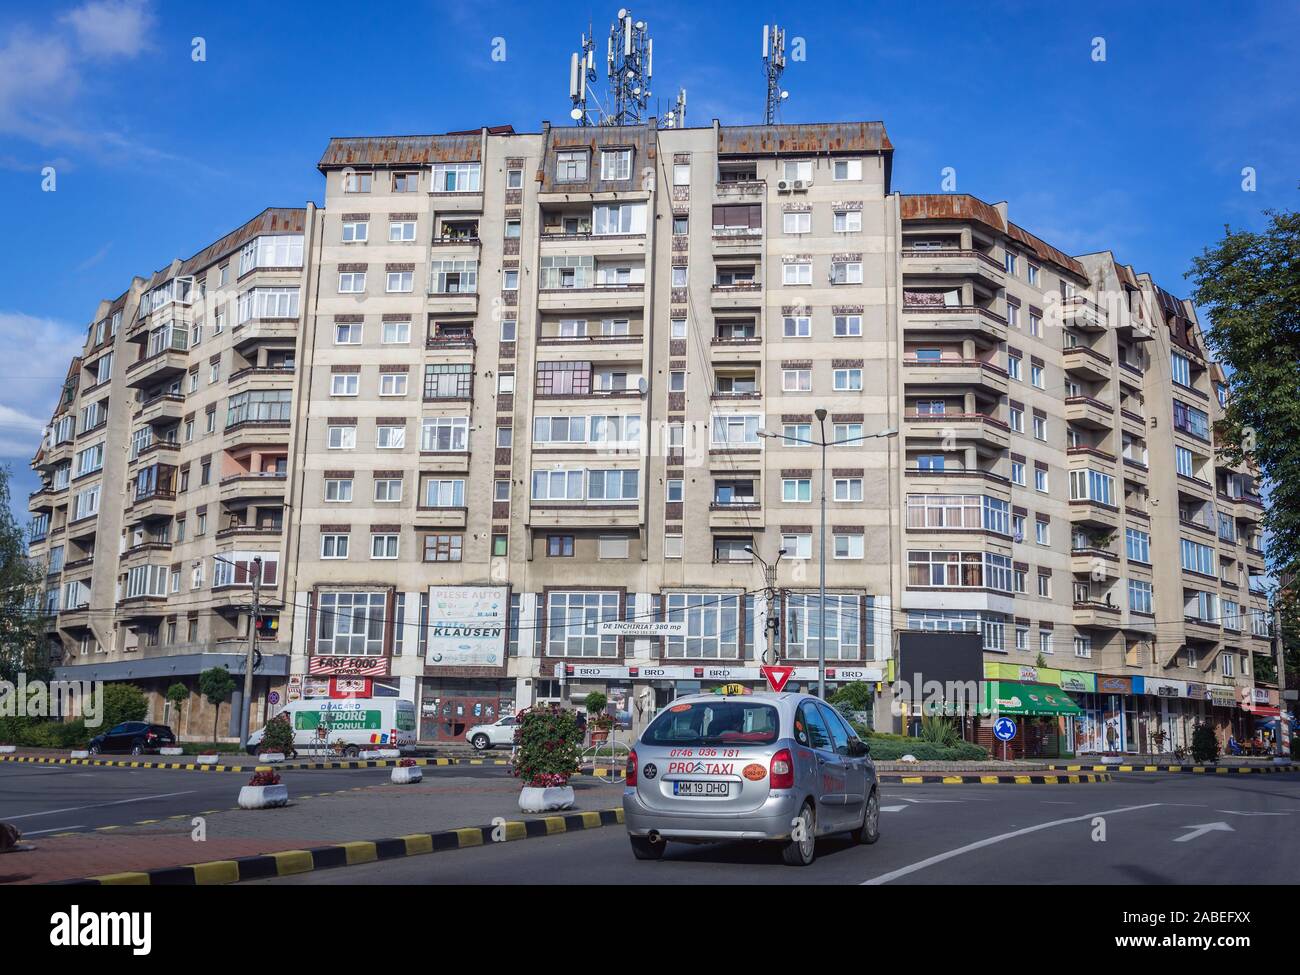
[[[623,816],[637,859],[668,841],[768,840],[806,866],[819,836],[880,838],[870,749],[810,694],[692,694],[650,723],[628,754]]]

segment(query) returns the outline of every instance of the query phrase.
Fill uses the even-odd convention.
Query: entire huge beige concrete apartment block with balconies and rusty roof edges
[[[812,686],[823,615],[878,727],[913,629],[980,633],[991,696],[1074,697],[1028,753],[1240,733],[1275,706],[1262,508],[1191,304],[1006,203],[901,194],[892,159],[880,122],[332,139],[321,209],[100,308],[32,498],[52,566],[75,478],[129,502],[86,523],[116,560],[52,575],[65,662],[237,655],[260,556],[259,693],[399,694],[425,741],[593,690],[638,725],[760,686],[768,638]]]

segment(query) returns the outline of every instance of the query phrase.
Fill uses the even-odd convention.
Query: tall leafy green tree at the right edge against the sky
[[[1216,430],[1230,463],[1269,482],[1269,558],[1277,576],[1300,568],[1300,212],[1266,211],[1256,233],[1223,229],[1192,261],[1192,300],[1227,367],[1227,410]]]

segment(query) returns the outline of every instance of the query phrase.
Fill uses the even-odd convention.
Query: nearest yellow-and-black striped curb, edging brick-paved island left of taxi
[[[153,887],[205,887],[211,884],[238,884],[244,880],[265,880],[313,870],[352,867],[359,863],[377,863],[385,859],[417,857],[422,853],[463,850],[469,846],[491,846],[514,840],[532,840],[540,836],[571,833],[581,829],[599,829],[623,823],[621,809],[593,812],[572,812],[564,816],[543,816],[523,822],[502,822],[495,826],[471,826],[462,829],[443,829],[437,833],[411,833],[387,840],[360,840],[316,846],[309,850],[281,850],[256,857],[218,859],[209,863],[191,863],[185,867],[162,867],[135,872],[107,874],[104,876],[60,880],[55,885],[153,885]]]

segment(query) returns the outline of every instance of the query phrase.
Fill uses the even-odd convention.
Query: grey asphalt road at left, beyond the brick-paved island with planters
[[[455,775],[494,776],[488,766],[455,766]],[[430,771],[429,775],[437,775]],[[178,815],[231,809],[251,772],[187,772],[157,768],[42,766],[0,762],[0,820],[23,836],[91,832]],[[380,785],[389,768],[289,771],[295,792],[328,792]],[[358,838],[370,838],[358,824]]]

